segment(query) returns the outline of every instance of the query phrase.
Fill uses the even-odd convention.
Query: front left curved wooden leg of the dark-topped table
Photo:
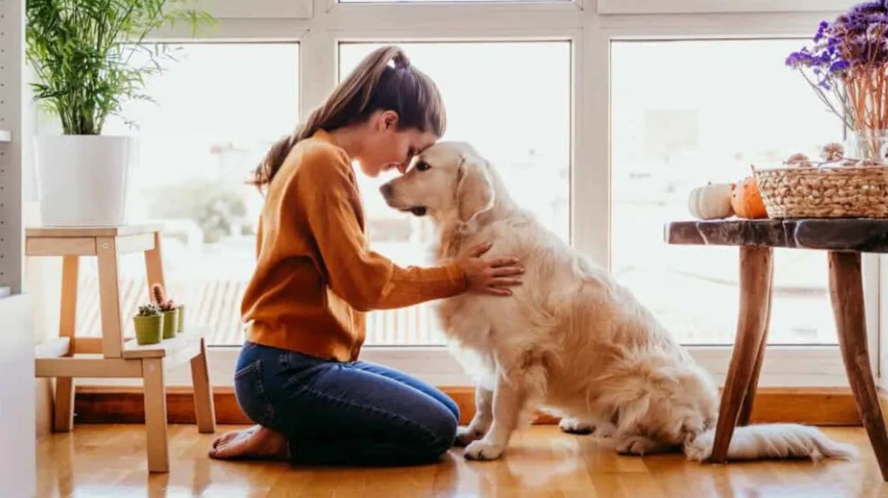
[[[740,415],[743,399],[756,372],[756,363],[763,350],[769,314],[773,272],[773,249],[740,248],[740,312],[737,335],[734,337],[731,365],[725,379],[718,424],[709,461],[724,463],[731,444],[733,428]]]

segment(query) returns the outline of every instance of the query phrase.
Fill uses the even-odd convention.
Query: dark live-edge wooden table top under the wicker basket
[[[665,225],[669,244],[888,253],[888,219],[715,219]]]

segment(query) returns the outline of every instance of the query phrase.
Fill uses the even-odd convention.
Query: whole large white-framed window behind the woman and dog
[[[518,202],[610,265],[717,379],[736,328],[737,250],[668,246],[662,222],[689,217],[693,186],[735,181],[750,163],[797,149],[814,154],[842,139],[836,119],[783,65],[813,36],[822,12],[847,8],[837,0],[211,4],[221,19],[206,38],[191,40],[185,28],[158,34],[188,43],[176,45],[180,62],[149,82],[157,105],[139,103],[124,116],[143,138],[131,207],[168,222],[170,295],[192,304],[189,322],[209,328],[216,385],[232,383],[243,337],[238,304],[254,267],[250,231],[261,198],[241,179],[381,43],[400,44],[438,83],[445,138],[471,141]],[[122,130],[118,121],[107,132]],[[427,264],[429,226],[385,206],[377,185],[387,179],[361,178],[372,245],[400,264]],[[874,352],[877,259],[863,265]],[[99,328],[86,280],[95,278],[92,265],[83,258],[79,334]],[[124,313],[147,297],[143,274],[141,258],[124,259]],[[762,385],[846,385],[825,255],[777,251],[774,279],[777,347],[768,350]],[[53,304],[58,295],[50,289],[44,298]],[[362,359],[437,385],[471,385],[440,347],[429,311],[370,313]],[[170,373],[173,384],[189,378],[187,368]]]

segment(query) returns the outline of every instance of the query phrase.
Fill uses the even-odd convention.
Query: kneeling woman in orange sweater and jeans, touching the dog
[[[393,67],[390,66],[393,63]],[[511,295],[523,270],[482,259],[401,268],[368,249],[351,163],[369,177],[407,169],[444,133],[432,80],[397,47],[372,52],[256,171],[266,190],[257,266],[242,301],[249,324],[234,391],[254,427],[213,442],[213,458],[306,464],[433,462],[459,410],[444,393],[358,361],[364,312],[466,291]]]

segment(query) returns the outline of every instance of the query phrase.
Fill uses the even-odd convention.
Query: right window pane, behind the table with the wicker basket
[[[618,279],[684,344],[733,344],[738,249],[668,246],[695,186],[734,182],[841,141],[842,125],[785,67],[804,40],[611,45],[612,240]],[[826,253],[776,249],[769,342],[835,344]]]

